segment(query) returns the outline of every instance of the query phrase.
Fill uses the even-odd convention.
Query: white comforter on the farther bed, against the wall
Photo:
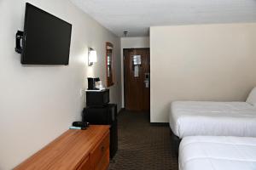
[[[246,102],[175,101],[170,127],[185,136],[256,137],[256,106]]]

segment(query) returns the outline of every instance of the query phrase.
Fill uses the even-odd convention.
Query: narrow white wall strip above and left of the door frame
[[[122,107],[125,107],[124,91],[124,48],[149,48],[149,37],[121,37],[121,84],[122,84]]]

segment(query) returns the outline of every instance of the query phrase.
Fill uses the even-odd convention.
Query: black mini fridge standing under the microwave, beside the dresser
[[[95,125],[110,125],[110,158],[118,150],[117,105],[87,106],[83,111],[83,122]]]

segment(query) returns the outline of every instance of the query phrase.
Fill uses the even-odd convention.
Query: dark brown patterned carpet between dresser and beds
[[[122,111],[118,116],[119,150],[109,170],[177,170],[170,127],[152,126],[149,114]]]

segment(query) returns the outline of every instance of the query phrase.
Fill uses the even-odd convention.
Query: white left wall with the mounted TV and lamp
[[[20,65],[15,33],[23,30],[25,3],[32,3],[73,25],[69,65]],[[120,39],[69,0],[0,1],[0,169],[11,169],[81,120],[86,77],[106,81],[105,42],[113,42],[115,85],[111,102],[121,105]],[[87,66],[87,49],[98,62]]]

